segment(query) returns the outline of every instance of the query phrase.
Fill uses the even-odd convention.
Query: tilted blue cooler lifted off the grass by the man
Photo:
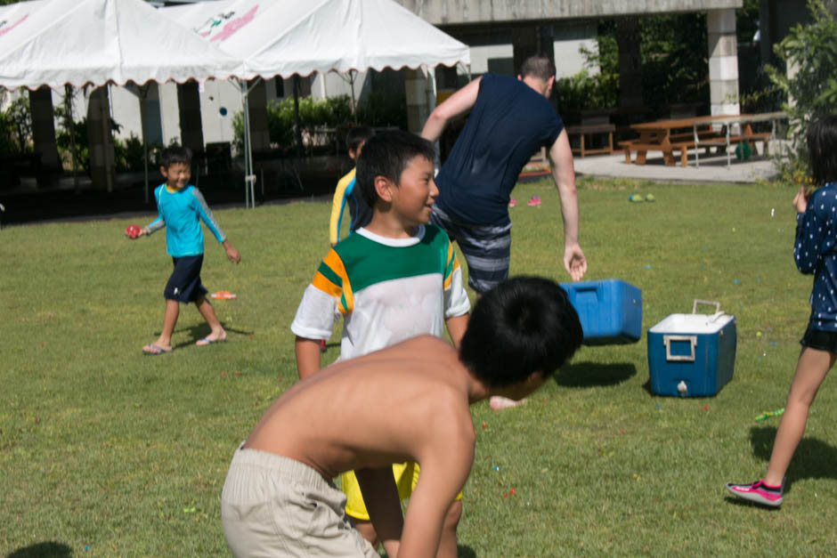
[[[583,344],[637,343],[642,335],[642,291],[619,279],[562,283],[579,315]]]

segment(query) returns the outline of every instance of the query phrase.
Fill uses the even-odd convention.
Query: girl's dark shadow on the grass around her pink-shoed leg
[[[752,455],[769,461],[775,439],[776,426],[753,426],[750,429]],[[788,467],[785,489],[801,479],[837,479],[834,463],[837,463],[837,448],[817,438],[803,437]]]

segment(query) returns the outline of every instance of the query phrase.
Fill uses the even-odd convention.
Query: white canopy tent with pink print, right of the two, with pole
[[[215,0],[161,11],[243,60],[248,79],[470,64],[467,44],[392,0]],[[248,89],[240,87],[252,198]]]

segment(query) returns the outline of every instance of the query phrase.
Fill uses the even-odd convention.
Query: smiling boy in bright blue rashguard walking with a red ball
[[[150,235],[166,227],[166,251],[175,263],[175,271],[163,291],[166,297],[163,330],[157,341],[142,347],[142,352],[146,354],[172,352],[172,333],[180,314],[180,303],[195,303],[211,329],[209,335],[199,339],[196,345],[213,344],[227,338],[212,304],[207,300],[207,289],[200,283],[200,268],[203,264],[203,231],[200,229],[200,221],[207,225],[215,239],[222,244],[231,262],[239,263],[241,256],[223,234],[200,190],[188,183],[191,178],[190,166],[191,150],[188,148],[175,146],[163,150],[160,174],[166,182],[154,190],[158,217],[137,235],[137,238]]]

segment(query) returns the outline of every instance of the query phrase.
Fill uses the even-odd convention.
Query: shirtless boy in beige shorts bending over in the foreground
[[[476,303],[459,352],[419,336],[300,381],[232,457],[221,497],[232,554],[377,557],[330,481],[353,469],[386,553],[434,556],[474,461],[468,406],[527,396],[580,345],[564,290],[516,278]],[[421,474],[402,516],[392,464],[407,461]]]

